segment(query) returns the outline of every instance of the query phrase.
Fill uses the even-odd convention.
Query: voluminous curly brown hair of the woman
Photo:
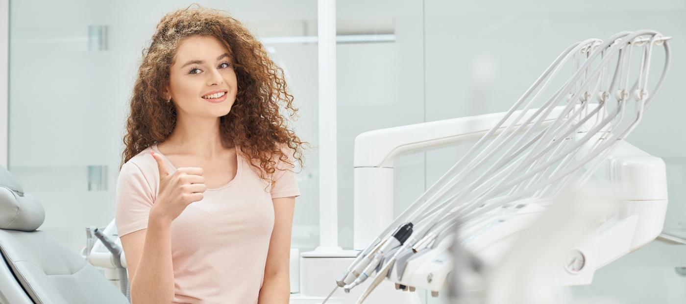
[[[198,8],[191,9],[193,5]],[[169,84],[169,68],[176,51],[191,36],[217,38],[233,59],[238,88],[230,112],[220,117],[222,144],[239,147],[265,181],[270,181],[265,173],[272,174],[276,169],[274,157],[294,165],[285,154],[287,151],[292,151],[293,160],[303,167],[303,145],[309,143],[301,141],[279,113],[280,103],[289,110],[291,118],[297,117],[298,111],[293,106],[293,96],[287,92],[283,69],[274,64],[261,42],[240,21],[222,10],[193,3],[163,16],[150,47],[143,49],[119,170],[131,157],[165,141],[174,131],[176,109],[172,103],[164,102],[163,92]]]

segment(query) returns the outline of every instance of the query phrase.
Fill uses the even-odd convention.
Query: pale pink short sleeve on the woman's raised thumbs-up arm
[[[115,225],[119,237],[146,229],[153,203],[150,183],[141,168],[132,162],[123,164],[115,190]]]

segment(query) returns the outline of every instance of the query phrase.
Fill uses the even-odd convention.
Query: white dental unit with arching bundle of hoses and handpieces
[[[638,216],[630,220],[607,220],[600,226],[604,234],[598,238],[606,238],[609,244],[589,249],[584,255],[587,268],[578,269],[582,275],[568,273],[565,283],[590,283],[595,269],[589,268],[600,268],[657,237],[667,205],[664,163],[624,139],[661,89],[670,64],[669,39],[657,31],[642,30],[624,31],[606,42],[576,42],[504,114],[389,128],[358,136],[356,149],[373,146],[379,153],[365,149],[370,153],[355,155],[355,248],[360,252],[338,277],[331,294],[339,287],[349,292],[369,277],[374,280],[357,303],[362,303],[384,279],[396,283],[397,288],[425,288],[435,294],[451,270],[453,263],[445,252],[458,227],[458,240],[466,249],[482,253],[486,261],[497,259],[495,256],[502,255],[504,249],[491,250],[501,251],[499,254],[488,252],[490,247],[497,247],[493,244],[501,242],[498,246],[506,248],[506,243],[511,242],[509,236],[523,229],[535,218],[532,215],[546,210],[552,198],[565,188],[583,186],[602,170],[610,170],[615,185],[624,186],[618,192],[634,194],[625,198],[627,201],[650,203],[632,206]],[[657,84],[649,88],[650,62],[654,47],[659,46],[665,51],[664,66]],[[641,51],[635,70],[634,49]],[[570,61],[573,75],[556,79]],[[545,94],[548,86],[560,80],[564,82],[553,94]],[[441,137],[427,132],[442,127],[460,128],[461,134],[448,135],[446,131],[447,135]],[[397,136],[403,130],[412,143],[404,143]],[[375,170],[388,168],[384,164],[388,155],[470,138],[480,139],[391,221],[388,215],[392,214],[392,197],[383,182],[389,173],[392,177],[392,170]],[[364,188],[357,188],[361,185]],[[385,197],[365,195],[369,194],[364,192],[366,189],[376,189]],[[375,231],[381,233],[372,239]],[[613,240],[620,237],[626,242]]]

